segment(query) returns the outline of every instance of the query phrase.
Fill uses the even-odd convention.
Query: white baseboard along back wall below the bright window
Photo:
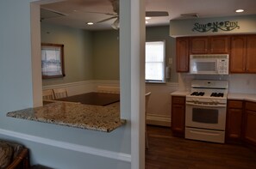
[[[171,127],[171,117],[147,113],[147,124]]]

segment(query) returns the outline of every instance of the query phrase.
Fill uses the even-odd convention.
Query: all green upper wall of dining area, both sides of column
[[[169,27],[147,27],[147,40],[165,39],[166,66],[172,69],[170,82],[178,81],[175,65],[175,39]],[[41,41],[65,45],[66,77],[43,80],[43,86],[74,81],[119,81],[119,31],[85,31],[41,23]],[[169,63],[172,58],[172,63]]]

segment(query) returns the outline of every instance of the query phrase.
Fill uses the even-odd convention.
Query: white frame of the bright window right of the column
[[[146,45],[147,45],[147,43],[151,43],[151,42],[162,42],[163,43],[163,62],[162,62],[162,64],[163,64],[163,69],[162,69],[162,71],[163,71],[163,78],[162,78],[162,80],[147,79],[147,77],[146,77],[146,75],[147,75],[147,72],[146,72],[147,47],[146,47]],[[152,41],[147,41],[146,42],[146,44],[145,44],[145,81],[146,82],[165,83],[165,81],[166,81],[166,77],[165,77],[166,76],[166,74],[165,74],[165,67],[166,67],[166,64],[165,64],[165,52],[166,52],[165,51],[165,40],[161,39],[161,40],[152,40]]]

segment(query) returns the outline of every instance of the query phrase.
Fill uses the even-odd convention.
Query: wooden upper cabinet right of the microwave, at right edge
[[[256,35],[231,37],[231,73],[256,73]]]

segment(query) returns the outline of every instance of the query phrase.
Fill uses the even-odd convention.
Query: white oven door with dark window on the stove
[[[226,105],[186,103],[185,126],[210,130],[225,130]]]

